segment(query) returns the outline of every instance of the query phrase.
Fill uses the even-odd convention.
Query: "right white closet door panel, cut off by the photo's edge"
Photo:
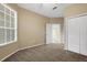
[[[80,17],[80,54],[87,55],[87,15]]]

